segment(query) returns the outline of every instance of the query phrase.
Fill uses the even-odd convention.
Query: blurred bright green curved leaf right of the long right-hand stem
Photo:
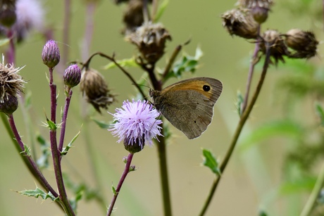
[[[241,148],[242,151],[245,151],[248,148],[251,148],[251,146],[260,144],[261,141],[265,139],[270,139],[271,137],[279,135],[287,136],[292,139],[301,139],[304,132],[304,127],[301,127],[299,124],[292,122],[291,120],[268,122],[257,127],[257,129],[247,135],[239,148]]]

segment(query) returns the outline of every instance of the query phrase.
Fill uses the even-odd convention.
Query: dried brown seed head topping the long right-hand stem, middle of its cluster
[[[270,56],[275,59],[275,64],[277,64],[279,60],[285,62],[282,56],[290,55],[281,36],[282,35],[278,31],[267,30],[262,34],[262,40],[260,43],[261,51],[266,54],[268,48]]]

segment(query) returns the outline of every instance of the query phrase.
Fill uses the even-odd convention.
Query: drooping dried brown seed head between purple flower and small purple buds
[[[101,113],[100,108],[108,109],[108,106],[115,101],[112,94],[109,94],[108,86],[104,77],[94,69],[87,69],[82,72],[80,89],[88,103]]]

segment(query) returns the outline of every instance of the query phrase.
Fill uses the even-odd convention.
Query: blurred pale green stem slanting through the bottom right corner
[[[322,169],[320,170],[320,174],[318,174],[316,184],[313,188],[313,191],[311,191],[311,196],[309,196],[309,200],[304,206],[304,209],[302,210],[300,216],[311,215],[311,212],[316,205],[316,201],[318,199],[320,191],[323,189],[323,186],[324,186],[324,165],[322,165]]]

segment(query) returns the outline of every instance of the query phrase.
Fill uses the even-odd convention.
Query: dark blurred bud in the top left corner
[[[11,27],[17,15],[15,13],[15,1],[1,1],[0,2],[0,24],[6,27]]]

